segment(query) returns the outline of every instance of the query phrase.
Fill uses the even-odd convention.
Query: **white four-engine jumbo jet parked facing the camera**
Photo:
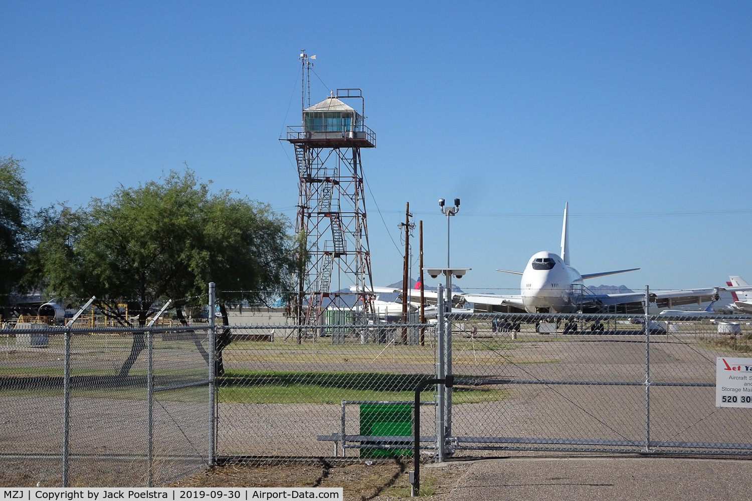
[[[507,312],[529,313],[632,313],[643,311],[644,293],[596,294],[584,286],[584,279],[624,273],[628,270],[586,273],[582,275],[569,264],[569,204],[564,206],[561,255],[537,252],[527,262],[525,270],[498,270],[521,275],[519,295],[453,293],[453,301],[486,305],[488,311],[499,311],[493,306],[506,307]],[[685,290],[650,291],[650,302],[659,307],[681,306],[717,300],[718,291],[749,291],[752,285],[739,287],[711,287]],[[401,289],[374,288],[375,292],[399,292]],[[435,300],[435,291],[425,291],[426,298]]]

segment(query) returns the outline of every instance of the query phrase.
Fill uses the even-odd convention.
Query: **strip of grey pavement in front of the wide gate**
[[[752,499],[752,459],[603,456],[480,460],[446,498],[490,499]]]

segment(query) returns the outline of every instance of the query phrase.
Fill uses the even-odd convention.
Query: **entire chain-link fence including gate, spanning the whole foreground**
[[[428,324],[314,326],[227,310],[231,325],[0,331],[0,481],[160,485],[217,460],[410,455],[415,388],[448,375],[420,394],[426,458],[752,453],[752,411],[714,398],[716,358],[752,351],[750,316],[440,306]]]

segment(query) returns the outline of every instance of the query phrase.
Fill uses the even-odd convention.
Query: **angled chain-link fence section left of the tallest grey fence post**
[[[160,485],[211,463],[207,325],[44,327],[0,333],[2,484]]]

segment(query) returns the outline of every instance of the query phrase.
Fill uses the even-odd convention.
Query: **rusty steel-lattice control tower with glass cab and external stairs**
[[[373,312],[360,149],[374,148],[376,135],[363,123],[360,89],[337,89],[311,106],[312,58],[300,55],[302,125],[287,127],[299,174],[296,234],[310,258],[299,272],[293,311],[298,324],[324,324],[327,309],[350,311],[342,320],[360,323]],[[343,101],[352,99],[360,111]]]

